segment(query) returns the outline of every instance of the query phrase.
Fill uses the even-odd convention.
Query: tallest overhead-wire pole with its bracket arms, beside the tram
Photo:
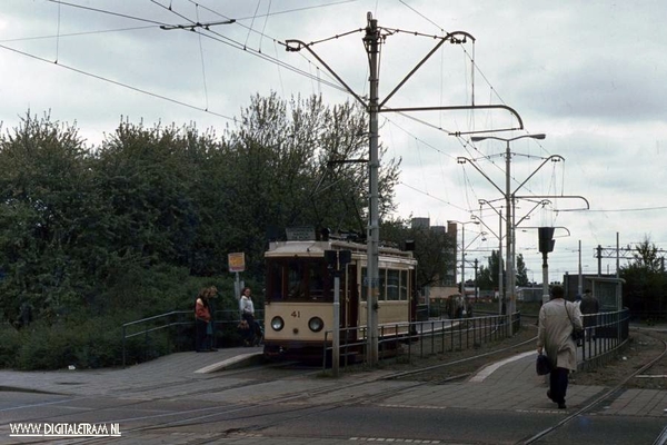
[[[367,277],[368,283],[362,285],[367,287],[367,352],[366,359],[370,366],[376,366],[378,363],[378,295],[379,295],[379,269],[378,269],[378,247],[379,247],[379,191],[378,191],[378,175],[379,175],[379,157],[378,157],[378,115],[380,112],[408,112],[408,111],[442,111],[442,110],[506,110],[509,111],[518,121],[517,128],[506,128],[504,130],[522,130],[524,122],[519,113],[511,107],[505,105],[462,105],[462,106],[445,106],[445,107],[407,107],[407,108],[385,108],[387,101],[412,77],[412,75],[447,41],[451,43],[465,43],[468,39],[475,41],[475,38],[465,31],[448,32],[444,37],[434,37],[432,34],[422,34],[419,32],[410,32],[416,37],[435,39],[436,46],[417,63],[415,68],[391,90],[387,97],[380,101],[379,99],[379,49],[380,44],[386,42],[390,36],[397,36],[396,29],[385,29],[378,26],[377,19],[372,18],[370,12],[367,13],[367,26],[365,29],[364,46],[368,53],[370,69],[370,97],[368,100],[356,93],[341,78],[338,76],[313,50],[312,46],[318,42],[305,43],[301,40],[289,39],[285,41],[287,51],[296,52],[302,49],[312,55],[322,67],[336,78],[345,89],[355,97],[368,111],[369,115],[369,211],[368,211],[368,239],[367,239]],[[385,32],[382,32],[385,31]],[[338,34],[340,38],[350,34],[355,31],[345,34]],[[401,34],[405,34],[402,32]],[[477,130],[477,131],[498,131],[494,130]],[[460,132],[456,134],[459,136]]]

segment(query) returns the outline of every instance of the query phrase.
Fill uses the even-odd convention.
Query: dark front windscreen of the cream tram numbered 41
[[[271,258],[267,298],[273,301],[334,301],[334,277],[322,258]]]

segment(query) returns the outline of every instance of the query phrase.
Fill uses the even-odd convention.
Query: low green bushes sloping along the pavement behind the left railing
[[[192,277],[182,268],[162,267],[138,271],[123,283],[116,283],[87,300],[86,306],[51,323],[47,318],[32,322],[20,330],[11,325],[0,327],[0,367],[62,369],[70,365],[79,369],[121,366],[123,362],[122,325],[150,316],[187,310],[180,317],[160,319],[153,324],[133,325],[128,334],[158,328],[168,323],[180,325],[159,328],[127,338],[126,364],[150,360],[172,352],[192,350],[195,344],[195,299],[199,289],[215,285],[218,317],[217,345],[238,346],[236,329],[238,298],[230,276]],[[252,284],[249,284],[252,286]],[[255,286],[253,288],[259,288]],[[256,295],[256,310],[261,313],[263,296]]]

